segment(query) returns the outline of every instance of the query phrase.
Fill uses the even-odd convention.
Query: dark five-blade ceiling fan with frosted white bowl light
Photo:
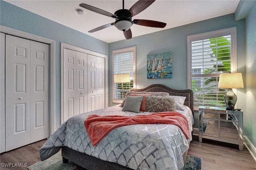
[[[93,30],[90,30],[88,32],[90,33],[96,32],[114,25],[118,30],[124,32],[124,37],[126,39],[130,39],[132,38],[132,31],[130,29],[132,24],[137,24],[137,25],[147,26],[147,27],[156,27],[156,28],[164,28],[166,26],[166,23],[164,22],[153,21],[153,20],[134,19],[132,21],[133,16],[139,14],[140,12],[148,8],[148,6],[150,6],[153,2],[155,2],[155,0],[138,0],[129,10],[126,10],[124,9],[124,0],[123,0],[123,9],[117,10],[114,14],[111,14],[109,12],[96,8],[94,6],[90,6],[88,4],[80,4],[79,6],[87,10],[96,12],[98,14],[102,14],[102,15],[109,16],[116,19],[115,22],[106,24],[104,26],[100,26],[98,28],[94,28]]]

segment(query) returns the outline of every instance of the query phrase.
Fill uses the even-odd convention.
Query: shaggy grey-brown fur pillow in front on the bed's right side
[[[175,100],[172,97],[146,96],[146,111],[148,112],[166,112],[175,109]]]

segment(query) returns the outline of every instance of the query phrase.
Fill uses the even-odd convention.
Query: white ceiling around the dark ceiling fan
[[[114,26],[88,33],[89,30],[112,23],[115,19],[79,6],[84,3],[114,14],[116,10],[122,9],[122,0],[5,1],[107,43],[125,39],[123,33]],[[130,9],[135,2],[137,0],[124,0],[124,8]],[[231,14],[235,12],[238,3],[239,0],[156,0],[146,10],[134,16],[132,20],[156,20],[167,23],[166,27],[150,28],[133,24],[131,27],[132,37]],[[84,10],[84,15],[78,15],[76,9]]]

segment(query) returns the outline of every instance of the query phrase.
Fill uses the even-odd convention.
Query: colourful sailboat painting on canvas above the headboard
[[[147,55],[147,78],[172,78],[172,51]]]

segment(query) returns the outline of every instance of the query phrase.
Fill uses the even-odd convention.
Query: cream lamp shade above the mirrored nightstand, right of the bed
[[[222,88],[222,89],[244,88],[242,73],[220,74],[218,88]]]

